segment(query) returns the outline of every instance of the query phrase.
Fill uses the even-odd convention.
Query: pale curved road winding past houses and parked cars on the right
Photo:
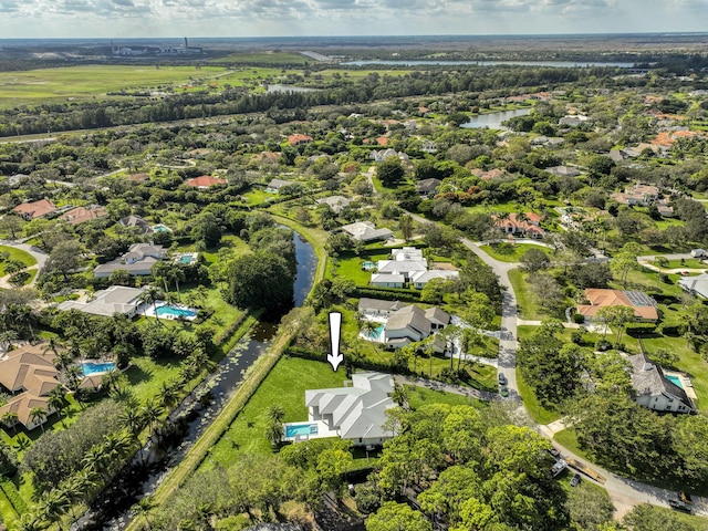
[[[429,223],[431,221],[412,214],[413,219],[419,223]],[[508,379],[509,396],[507,400],[519,404],[520,409],[525,414],[519,395],[519,386],[517,383],[517,298],[513,287],[509,281],[509,271],[519,267],[518,263],[501,262],[493,259],[482,251],[477,243],[466,238],[461,240],[462,244],[477,254],[487,266],[492,268],[494,273],[499,275],[499,283],[506,288],[501,308],[501,339],[499,341],[499,369],[503,372]],[[530,420],[537,431],[544,437],[553,439],[554,431],[549,426],[540,426]],[[579,461],[587,462],[586,459],[580,458],[568,448],[553,441],[564,457],[573,457]],[[608,470],[604,470],[594,464],[590,464],[593,469],[607,478],[603,487],[607,490],[612,502],[616,508],[618,518],[622,518],[632,507],[641,503],[650,503],[653,506],[669,507],[668,500],[676,499],[676,492],[641,483],[627,478],[622,478]],[[697,514],[708,516],[708,500],[706,498],[694,497],[694,509]]]

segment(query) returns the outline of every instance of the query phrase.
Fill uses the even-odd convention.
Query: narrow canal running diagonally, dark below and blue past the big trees
[[[301,306],[312,289],[317,256],[312,244],[294,233],[298,269],[294,305]],[[277,324],[258,323],[225,356],[195,391],[173,412],[167,425],[173,428],[158,447],[148,444],[116,480],[98,497],[91,510],[72,530],[123,530],[129,523],[129,509],[144,496],[155,492],[187,451],[216,419],[243,383],[246,371],[271,345]],[[145,466],[145,460],[152,465]]]

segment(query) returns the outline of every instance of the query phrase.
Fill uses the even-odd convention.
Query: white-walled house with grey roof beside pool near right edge
[[[696,406],[680,385],[668,379],[662,367],[645,354],[629,357],[634,400],[655,412],[696,413]],[[680,381],[679,381],[680,383]]]

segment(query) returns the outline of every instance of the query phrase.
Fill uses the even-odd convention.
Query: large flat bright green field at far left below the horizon
[[[220,67],[84,65],[0,72],[0,108],[90,100],[110,92],[165,88],[223,72]]]

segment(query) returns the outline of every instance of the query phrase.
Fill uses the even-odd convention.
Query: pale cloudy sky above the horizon
[[[0,0],[0,38],[706,31],[707,0]]]

